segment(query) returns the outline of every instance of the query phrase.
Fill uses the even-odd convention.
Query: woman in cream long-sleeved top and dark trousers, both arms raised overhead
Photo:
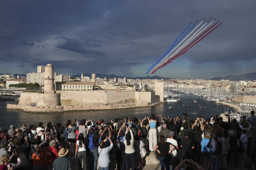
[[[130,169],[129,163],[131,164],[131,168],[135,169],[136,164],[135,164],[135,150],[133,147],[133,134],[128,133],[130,130],[129,126],[126,127],[126,132],[125,132],[125,138],[124,138],[124,145],[125,145],[125,152],[124,152],[124,163],[125,163],[125,169]]]

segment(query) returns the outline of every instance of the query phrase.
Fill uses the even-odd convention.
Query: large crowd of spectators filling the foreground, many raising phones
[[[74,160],[79,170],[87,169],[87,164],[90,170],[98,166],[108,170],[110,154],[116,154],[118,170],[135,170],[144,168],[150,152],[158,152],[161,170],[226,169],[232,160],[235,169],[240,163],[251,169],[256,155],[254,114],[251,111],[239,122],[229,116],[223,122],[217,115],[193,119],[159,113],[143,120],[123,117],[93,123],[89,118],[67,120],[64,126],[56,122],[11,125],[0,128],[0,169],[70,170]],[[177,156],[179,149],[182,157]]]

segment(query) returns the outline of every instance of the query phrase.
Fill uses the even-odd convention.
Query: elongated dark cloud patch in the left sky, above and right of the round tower
[[[85,48],[88,44],[83,44],[82,42],[79,42],[75,39],[69,39],[69,38],[60,38],[64,39],[64,43],[59,43],[56,48],[60,48],[63,50],[69,50],[72,52],[80,53],[80,54],[93,54],[93,55],[99,55],[99,56],[106,56],[105,52],[100,52],[97,50],[90,50],[88,48]]]

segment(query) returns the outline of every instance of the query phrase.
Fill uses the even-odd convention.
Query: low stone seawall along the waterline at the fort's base
[[[83,105],[83,106],[52,106],[52,107],[37,107],[37,106],[27,106],[27,105],[14,105],[7,104],[7,109],[19,109],[24,112],[31,113],[50,113],[50,112],[65,112],[65,111],[90,111],[90,110],[112,110],[112,109],[126,109],[133,107],[147,107],[155,106],[163,102],[148,104],[143,102],[138,103],[125,103],[125,104],[115,104],[115,105]]]

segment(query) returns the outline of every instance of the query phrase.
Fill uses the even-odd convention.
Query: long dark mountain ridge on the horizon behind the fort
[[[91,77],[92,76],[92,74],[91,73],[85,73],[85,74],[83,74],[83,76],[87,76],[87,77]],[[78,74],[78,75],[73,75],[73,76],[71,76],[71,77],[81,77],[81,74]],[[104,77],[107,77],[107,78],[124,78],[125,76],[117,76],[117,75],[114,75],[114,74],[112,74],[112,75],[103,75],[103,74],[96,74],[96,77],[99,77],[99,78],[104,78]],[[165,80],[167,80],[167,79],[170,79],[170,78],[164,78],[164,77],[159,77],[159,76],[146,76],[146,77],[126,77],[126,78],[128,78],[128,79],[165,79]]]

